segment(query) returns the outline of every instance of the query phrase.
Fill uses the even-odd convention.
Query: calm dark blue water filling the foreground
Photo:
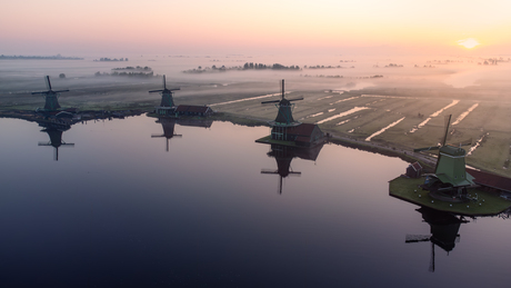
[[[74,125],[56,161],[41,129],[0,119],[0,287],[509,287],[511,221],[468,219],[448,254],[389,196],[400,159],[142,116]]]

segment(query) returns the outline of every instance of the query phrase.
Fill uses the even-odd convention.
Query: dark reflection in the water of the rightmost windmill
[[[417,209],[422,219],[430,225],[430,235],[407,235],[405,242],[431,242],[431,260],[429,271],[434,272],[434,246],[442,248],[448,254],[460,241],[460,226],[468,222],[462,216],[442,212],[430,208]]]

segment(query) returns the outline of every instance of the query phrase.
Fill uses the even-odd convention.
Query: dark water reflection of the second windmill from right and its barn
[[[293,171],[291,161],[293,158],[301,158],[303,160],[315,161],[323,145],[315,146],[314,148],[295,148],[282,145],[271,145],[271,150],[267,153],[269,157],[275,158],[277,170],[262,169],[261,173],[279,175],[278,192],[282,193],[282,179],[289,176],[301,176],[300,171]]]

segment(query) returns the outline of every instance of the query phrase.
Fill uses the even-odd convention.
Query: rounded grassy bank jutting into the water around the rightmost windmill
[[[398,177],[390,181],[389,193],[390,196],[415,205],[467,216],[498,215],[511,206],[511,201],[480,189],[469,189],[470,196],[474,197],[475,193],[478,195],[478,201],[464,203],[440,201],[431,198],[427,190],[422,190],[422,188],[419,187],[423,181],[423,178],[412,179]]]

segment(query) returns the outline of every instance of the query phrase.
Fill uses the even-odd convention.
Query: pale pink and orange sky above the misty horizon
[[[6,0],[0,53],[470,53],[511,48],[511,1]],[[395,48],[395,49],[393,49]]]

